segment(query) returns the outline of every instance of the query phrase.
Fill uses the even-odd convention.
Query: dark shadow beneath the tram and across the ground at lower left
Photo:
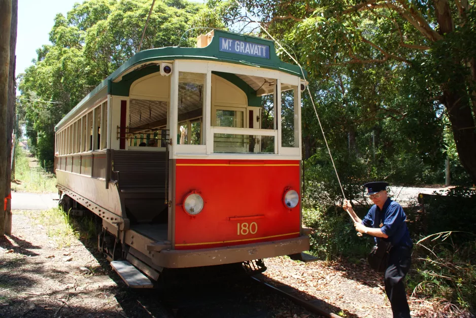
[[[74,222],[74,221],[71,221]],[[78,226],[81,222],[75,222]],[[85,232],[86,229],[78,229]],[[61,260],[39,256],[42,246],[8,236],[0,239],[4,253],[0,256],[0,316],[5,317],[181,317],[181,318],[287,318],[318,317],[294,304],[273,290],[258,284],[250,277],[214,277],[208,273],[190,274],[183,270],[180,284],[154,290],[133,290],[125,286],[122,279],[111,269],[109,262],[97,251],[97,242],[80,235],[81,243],[97,260],[100,267],[89,275],[74,274],[71,268],[63,267]],[[36,253],[37,251],[38,253]],[[181,272],[182,273],[182,272]],[[177,274],[177,273],[176,273]],[[111,278],[105,279],[105,275]],[[93,284],[94,279],[101,284]],[[85,280],[89,280],[85,283]],[[40,282],[51,282],[54,286],[39,290]],[[104,284],[109,281],[109,284]],[[280,284],[277,281],[275,285]],[[48,283],[49,284],[49,283]],[[45,284],[41,285],[45,286]],[[311,295],[291,287],[287,292],[322,305],[327,311],[345,313],[346,317],[357,317]],[[103,308],[88,305],[94,299],[104,299]],[[114,301],[114,299],[117,301]],[[110,301],[113,300],[113,301]]]

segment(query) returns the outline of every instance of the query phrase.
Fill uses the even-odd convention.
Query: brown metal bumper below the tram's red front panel
[[[296,254],[309,250],[309,236],[203,250],[163,250],[153,262],[162,267],[210,266]]]

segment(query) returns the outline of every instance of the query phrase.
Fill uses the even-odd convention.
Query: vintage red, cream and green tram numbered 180
[[[135,54],[55,126],[63,207],[102,220],[98,249],[130,287],[309,250],[305,84],[274,42],[222,30]]]

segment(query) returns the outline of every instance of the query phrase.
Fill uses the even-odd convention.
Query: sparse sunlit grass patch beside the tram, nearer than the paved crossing
[[[71,246],[71,243],[79,238],[79,232],[69,213],[60,208],[51,208],[44,211],[24,211],[35,224],[46,227],[47,235],[56,248],[61,249]]]

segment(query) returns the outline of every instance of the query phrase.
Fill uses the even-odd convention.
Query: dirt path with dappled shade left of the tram
[[[109,272],[79,240],[59,249],[48,231],[14,211],[14,235],[0,239],[0,316],[125,316]]]

